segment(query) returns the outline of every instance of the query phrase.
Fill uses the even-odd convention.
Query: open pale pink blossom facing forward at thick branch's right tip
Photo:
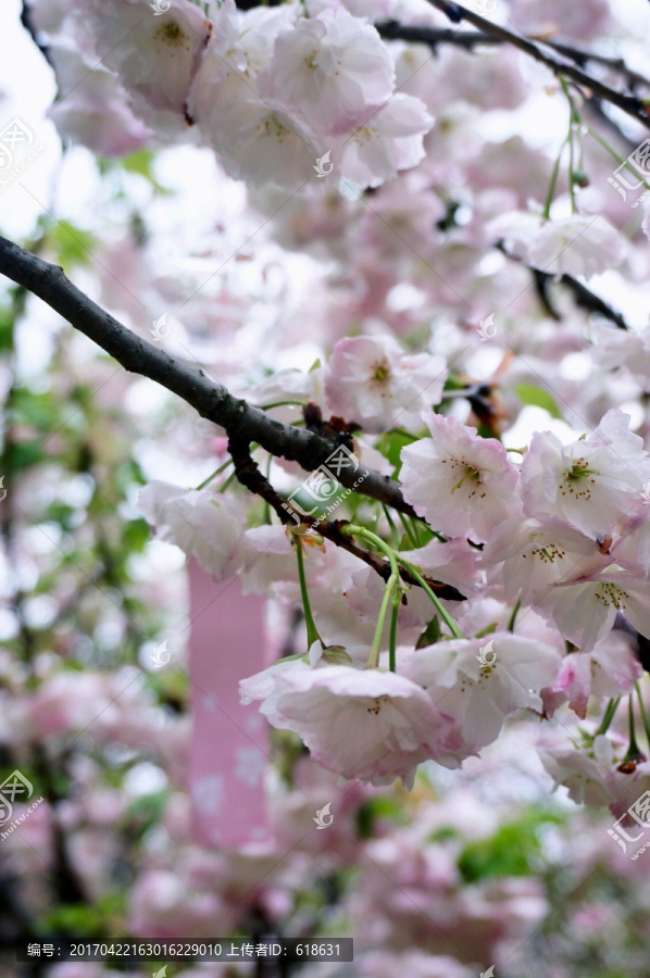
[[[454,417],[433,411],[423,417],[432,437],[402,449],[404,496],[435,529],[487,540],[518,507],[516,469],[495,439]]]

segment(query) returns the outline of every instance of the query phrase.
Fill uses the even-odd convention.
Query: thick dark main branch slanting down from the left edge
[[[58,265],[0,237],[0,274],[47,302],[64,319],[114,356],[125,371],[161,384],[190,404],[201,417],[221,425],[230,438],[255,441],[272,455],[282,456],[314,472],[336,450],[339,442],[311,431],[285,425],[247,401],[235,398],[202,371],[187,366],[164,350],[132,333],[110,313],[92,302],[64,275]],[[360,465],[355,472],[342,469],[339,481],[401,513],[420,518],[404,500],[399,482]],[[363,480],[362,484],[359,480]]]

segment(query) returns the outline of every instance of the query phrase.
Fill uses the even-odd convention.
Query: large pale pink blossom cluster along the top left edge
[[[342,5],[305,16],[224,0],[205,14],[177,0],[160,20],[137,0],[70,0],[59,17],[34,5],[65,96],[52,118],[98,152],[185,138],[235,179],[292,191],[333,167],[358,190],[378,187],[424,158],[433,117],[397,89],[375,27]]]

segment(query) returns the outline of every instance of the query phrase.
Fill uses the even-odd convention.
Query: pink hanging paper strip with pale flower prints
[[[188,572],[193,837],[223,849],[272,842],[267,725],[254,706],[239,703],[239,680],[268,665],[264,599],[243,597],[238,577],[215,581],[193,560]]]

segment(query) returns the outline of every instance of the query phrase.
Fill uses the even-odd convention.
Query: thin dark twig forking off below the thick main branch
[[[314,519],[313,516],[300,513],[293,504],[291,504],[290,509],[285,509],[286,503],[283,498],[278,496],[268,479],[260,472],[255,461],[251,459],[250,444],[246,439],[230,438],[228,441],[228,451],[235,463],[235,474],[241,485],[250,492],[254,492],[267,502],[275,513],[277,513],[280,523],[287,526],[302,525],[304,527],[310,527],[314,532],[320,534],[326,540],[330,540],[333,543],[336,543],[337,547],[342,547],[348,553],[359,557],[364,564],[367,564],[368,567],[376,570],[383,580],[388,580],[391,574],[388,561],[371,553],[368,550],[364,550],[350,537],[342,534],[340,531],[340,527],[343,525],[341,521]],[[404,567],[400,567],[400,576],[407,584],[420,587],[418,581],[415,580]],[[465,601],[464,594],[461,594],[461,592],[451,585],[446,585],[440,580],[434,580],[425,575],[423,576],[428,586],[432,590],[437,592],[439,598],[445,598],[448,601]]]

